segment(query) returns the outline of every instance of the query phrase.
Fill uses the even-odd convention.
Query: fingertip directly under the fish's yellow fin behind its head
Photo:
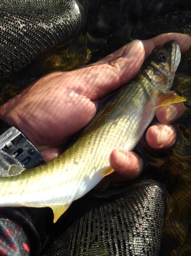
[[[183,102],[170,104],[157,108],[156,118],[162,124],[169,124],[184,114],[185,106]]]

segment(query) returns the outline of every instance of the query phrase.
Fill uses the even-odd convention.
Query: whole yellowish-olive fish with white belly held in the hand
[[[175,40],[156,47],[132,81],[100,101],[102,108],[61,155],[31,169],[10,166],[9,176],[0,178],[0,206],[50,207],[56,222],[114,171],[113,149],[135,148],[158,106],[186,100],[169,93],[180,59]]]

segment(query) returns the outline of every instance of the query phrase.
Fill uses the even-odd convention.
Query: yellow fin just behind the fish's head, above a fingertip
[[[153,108],[158,108],[161,106],[169,105],[172,103],[183,102],[183,101],[186,101],[186,98],[179,96],[177,94],[166,93],[166,94],[160,95],[157,104]]]

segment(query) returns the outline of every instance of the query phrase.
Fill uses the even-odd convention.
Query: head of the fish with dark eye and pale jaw
[[[180,60],[180,47],[175,40],[153,49],[143,65],[143,73],[151,82],[156,94],[170,90]]]

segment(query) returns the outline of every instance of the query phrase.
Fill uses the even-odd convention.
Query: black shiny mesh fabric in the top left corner
[[[75,0],[1,0],[0,78],[69,42],[83,15]]]

